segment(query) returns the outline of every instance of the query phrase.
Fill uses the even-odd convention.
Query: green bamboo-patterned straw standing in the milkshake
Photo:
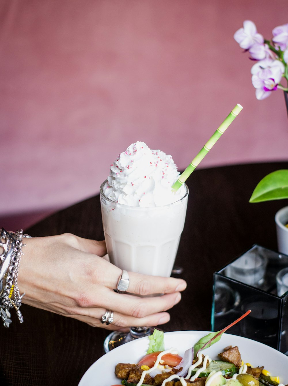
[[[205,155],[211,150],[211,148],[216,144],[218,139],[221,137],[221,135],[224,133],[224,131],[227,129],[227,127],[234,121],[234,119],[237,117],[239,112],[243,109],[239,103],[233,108],[231,113],[224,119],[224,121],[221,123],[221,125],[218,127],[216,132],[212,135],[212,137],[205,143],[205,145],[202,147],[202,149],[199,151],[197,156],[192,159],[191,163],[187,166],[187,168],[184,170],[184,172],[179,176],[177,181],[172,186],[172,191],[175,193],[180,186],[184,184],[186,179],[190,176],[190,174],[195,170],[195,168],[199,165],[199,163],[202,161],[202,159],[205,157]]]

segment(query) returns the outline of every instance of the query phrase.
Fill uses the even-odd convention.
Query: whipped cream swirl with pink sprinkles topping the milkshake
[[[185,195],[184,185],[172,192],[179,174],[170,155],[150,150],[144,142],[134,142],[111,164],[104,194],[133,207],[168,205]]]

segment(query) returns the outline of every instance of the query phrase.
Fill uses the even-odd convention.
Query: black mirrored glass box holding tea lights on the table
[[[214,273],[211,330],[219,331],[251,313],[227,331],[288,353],[288,291],[278,295],[277,273],[288,256],[253,245]]]

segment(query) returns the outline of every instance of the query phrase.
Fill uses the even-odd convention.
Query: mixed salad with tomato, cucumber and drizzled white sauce
[[[115,374],[126,386],[284,386],[264,366],[244,363],[237,346],[226,347],[217,360],[203,354],[222,334],[205,335],[182,358],[174,348],[164,350],[163,332],[155,330],[147,354],[137,364],[118,363]]]

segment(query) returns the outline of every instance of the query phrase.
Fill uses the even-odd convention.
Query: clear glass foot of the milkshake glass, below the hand
[[[104,351],[109,352],[122,344],[153,334],[155,327],[131,327],[129,332],[113,331],[104,340]]]

